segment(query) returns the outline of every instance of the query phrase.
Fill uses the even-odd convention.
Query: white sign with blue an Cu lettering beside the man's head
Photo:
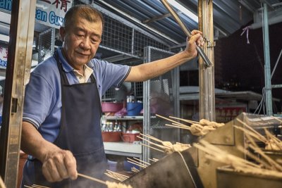
[[[73,0],[37,0],[35,20],[37,23],[59,28],[72,4]]]

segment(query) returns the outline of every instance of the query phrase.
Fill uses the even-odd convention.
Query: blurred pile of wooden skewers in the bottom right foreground
[[[200,144],[193,144],[193,146],[207,153],[206,158],[230,165],[237,172],[255,175],[271,175],[282,178],[282,159],[279,158],[274,160],[267,156],[266,153],[264,153],[264,151],[262,151],[262,149],[260,149],[255,142],[256,139],[264,142],[264,144],[266,144],[266,148],[281,150],[281,140],[277,139],[266,129],[264,129],[266,132],[266,137],[264,137],[262,134],[259,134],[259,132],[243,121],[239,120],[238,118],[236,120],[244,125],[244,127],[239,127],[236,125],[234,125],[234,127],[238,130],[242,130],[247,139],[246,148],[243,148],[243,146],[238,146],[238,150],[243,152],[245,156],[251,158],[254,162],[247,161],[243,158],[239,158],[238,156],[233,156],[230,153],[227,153],[226,151],[219,149],[219,147],[209,144],[204,140],[201,140]],[[249,149],[251,149],[252,152]],[[260,157],[253,152],[259,154]]]

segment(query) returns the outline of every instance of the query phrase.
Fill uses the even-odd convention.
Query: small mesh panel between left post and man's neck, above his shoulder
[[[54,53],[55,28],[50,28],[39,34],[38,63],[49,58]]]

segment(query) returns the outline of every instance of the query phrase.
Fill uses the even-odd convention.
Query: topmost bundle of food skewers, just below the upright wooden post
[[[182,118],[176,118],[173,116],[169,116],[169,118],[166,118],[164,116],[161,115],[157,115],[157,117],[159,118],[163,118],[165,120],[171,121],[171,124],[166,124],[166,126],[169,127],[176,127],[176,128],[180,128],[180,129],[184,129],[184,130],[190,130],[191,134],[195,135],[195,136],[203,136],[213,130],[216,130],[218,127],[222,127],[223,125],[225,125],[224,123],[216,123],[214,121],[209,121],[209,120],[205,120],[202,119],[199,122],[197,121],[193,121],[193,120],[185,120]],[[174,119],[174,120],[173,120]],[[185,125],[183,123],[179,123],[176,120],[181,120],[185,123],[189,123],[190,125]]]

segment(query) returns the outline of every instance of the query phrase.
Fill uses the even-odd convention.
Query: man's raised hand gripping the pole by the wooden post
[[[202,37],[202,32],[192,30],[191,36],[187,39],[187,46],[185,49],[188,56],[192,56],[193,58],[197,56],[196,45],[202,47],[204,45],[204,39]]]

